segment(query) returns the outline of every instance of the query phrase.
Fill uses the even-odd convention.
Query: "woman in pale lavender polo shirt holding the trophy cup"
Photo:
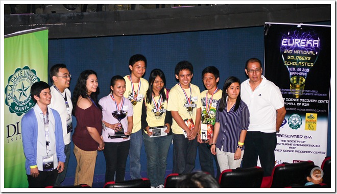
[[[103,123],[106,129],[102,136],[105,143],[103,154],[106,161],[105,182],[124,181],[125,166],[130,149],[130,134],[133,127],[133,108],[131,101],[124,97],[126,90],[125,79],[114,76],[110,81],[110,94],[103,97],[99,104],[102,106]],[[121,124],[114,118],[114,112],[123,111]],[[119,130],[126,136],[118,136]],[[114,176],[116,174],[116,180]]]

